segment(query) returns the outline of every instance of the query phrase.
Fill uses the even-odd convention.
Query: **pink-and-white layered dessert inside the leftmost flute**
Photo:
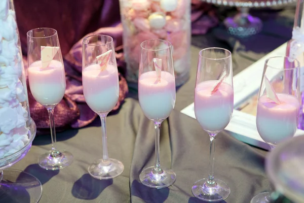
[[[33,97],[41,105],[56,105],[65,91],[65,72],[58,60],[42,68],[42,61],[35,61],[28,67],[29,88]]]

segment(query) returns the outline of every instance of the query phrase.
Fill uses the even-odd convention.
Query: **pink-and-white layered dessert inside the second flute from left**
[[[84,96],[94,112],[111,111],[119,98],[118,70],[108,64],[104,71],[99,64],[85,67],[82,72]]]

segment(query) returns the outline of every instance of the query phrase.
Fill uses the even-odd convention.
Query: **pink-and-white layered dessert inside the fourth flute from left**
[[[223,130],[230,122],[233,112],[232,86],[222,82],[218,89],[211,93],[217,83],[216,80],[205,81],[195,88],[195,116],[203,129],[209,132]]]

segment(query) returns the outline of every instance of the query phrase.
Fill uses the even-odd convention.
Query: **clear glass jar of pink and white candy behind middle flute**
[[[140,43],[148,39],[172,44],[176,86],[189,78],[190,0],[120,0],[128,82],[138,81]]]

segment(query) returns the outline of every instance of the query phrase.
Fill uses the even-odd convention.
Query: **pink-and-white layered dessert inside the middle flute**
[[[156,71],[140,75],[138,97],[145,116],[151,120],[168,118],[175,105],[175,83],[172,74],[162,71],[157,80]]]

